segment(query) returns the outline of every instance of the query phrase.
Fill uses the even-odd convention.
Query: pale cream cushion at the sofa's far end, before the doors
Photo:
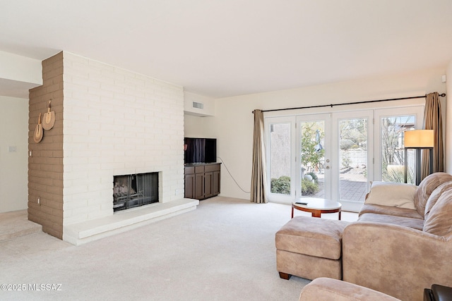
[[[416,185],[374,181],[364,203],[416,209],[416,190]]]

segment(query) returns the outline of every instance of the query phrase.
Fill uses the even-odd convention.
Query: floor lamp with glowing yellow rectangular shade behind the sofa
[[[405,147],[405,183],[408,181],[408,149],[416,149],[416,185],[421,183],[421,149],[430,149],[429,173],[433,173],[433,130],[405,130],[403,147]]]

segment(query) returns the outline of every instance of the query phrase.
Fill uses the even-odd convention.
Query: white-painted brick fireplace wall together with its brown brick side
[[[59,199],[58,206],[55,204],[59,211],[46,209],[35,221],[41,223],[59,213],[57,228],[62,232],[61,225],[111,216],[113,176],[122,174],[160,172],[159,202],[183,198],[183,88],[66,51],[43,62],[43,76],[44,64],[50,62],[56,70],[48,72],[59,73],[61,87],[61,99],[55,104],[61,106],[56,111],[59,128],[54,128],[58,139],[49,141],[54,129],[44,131],[42,142],[30,140],[30,148],[47,143],[57,147],[58,143],[59,152],[33,154],[30,162],[35,160],[38,171],[44,162],[59,164],[59,182],[53,187],[59,197],[52,195]],[[30,137],[37,113],[44,113],[47,106],[47,95],[40,95],[32,106],[32,94],[56,93],[52,87],[57,78],[44,78],[44,85],[30,92]],[[32,183],[42,190],[40,184]],[[36,194],[30,190],[30,195],[29,211],[35,211]],[[37,208],[42,211],[43,206],[41,195]],[[57,231],[50,234],[54,233]],[[55,236],[61,238],[60,233]]]

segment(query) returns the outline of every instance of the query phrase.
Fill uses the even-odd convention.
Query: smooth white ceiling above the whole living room
[[[452,0],[0,0],[0,50],[229,97],[446,68]]]

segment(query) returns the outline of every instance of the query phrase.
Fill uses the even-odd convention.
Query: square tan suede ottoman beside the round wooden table
[[[296,216],[275,235],[280,277],[342,278],[342,233],[347,221]]]

